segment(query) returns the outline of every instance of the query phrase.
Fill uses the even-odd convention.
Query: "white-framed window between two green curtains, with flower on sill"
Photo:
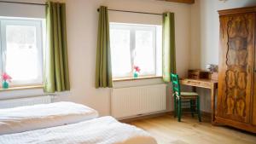
[[[113,78],[161,75],[161,26],[110,23]]]

